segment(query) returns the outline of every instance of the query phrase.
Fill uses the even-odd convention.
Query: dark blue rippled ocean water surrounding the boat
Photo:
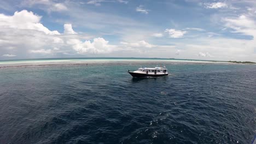
[[[0,143],[249,143],[256,65],[153,64],[0,69]]]

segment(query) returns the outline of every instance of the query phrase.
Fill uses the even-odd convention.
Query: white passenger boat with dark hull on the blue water
[[[132,77],[159,77],[168,75],[166,67],[139,68],[135,71],[128,70]]]

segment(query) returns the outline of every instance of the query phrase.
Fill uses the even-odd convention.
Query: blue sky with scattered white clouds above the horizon
[[[0,59],[256,62],[254,0],[0,0]]]

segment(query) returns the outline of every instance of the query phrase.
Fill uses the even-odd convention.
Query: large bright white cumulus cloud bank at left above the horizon
[[[24,58],[28,53],[31,57],[61,56],[66,53],[84,55],[109,53],[115,50],[116,46],[109,45],[109,41],[103,38],[84,41],[88,37],[75,32],[69,23],[63,26],[63,34],[50,31],[40,23],[41,18],[42,16],[27,10],[16,11],[13,16],[0,14],[0,56],[10,57],[16,53],[19,53],[19,58]],[[9,47],[15,47],[15,51]]]

